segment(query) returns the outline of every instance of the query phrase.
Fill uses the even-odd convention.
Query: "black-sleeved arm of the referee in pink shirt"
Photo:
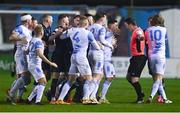
[[[136,49],[140,53],[141,51],[141,41],[144,40],[144,35],[143,32],[138,31],[137,32],[137,37],[136,37]]]

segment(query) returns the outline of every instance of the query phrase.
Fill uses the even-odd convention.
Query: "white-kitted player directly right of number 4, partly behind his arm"
[[[112,49],[112,44],[105,40],[106,28],[104,25],[106,23],[106,15],[97,14],[95,20],[96,22],[88,29],[93,33],[96,41],[98,41],[101,45],[110,47]],[[98,101],[96,99],[96,93],[103,75],[104,51],[102,49],[96,50],[90,45],[88,59],[93,73],[93,82],[96,85],[90,98],[93,102],[97,103]]]

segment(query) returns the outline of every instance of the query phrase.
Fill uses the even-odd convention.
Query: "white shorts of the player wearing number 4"
[[[69,69],[69,75],[92,75],[89,62],[86,57],[73,54],[71,56],[71,66]]]

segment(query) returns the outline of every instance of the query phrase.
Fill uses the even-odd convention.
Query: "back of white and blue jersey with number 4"
[[[90,31],[85,28],[76,28],[70,34],[70,38],[73,45],[73,54],[81,53],[81,55],[86,55],[88,48],[88,35]]]

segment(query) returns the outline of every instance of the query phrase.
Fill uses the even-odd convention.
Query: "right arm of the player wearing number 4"
[[[96,48],[97,50],[103,49],[103,47],[99,46],[99,44],[97,43],[97,41],[94,38],[94,35],[91,32],[89,32],[89,34],[88,34],[88,40],[92,44],[92,46],[94,48]]]

